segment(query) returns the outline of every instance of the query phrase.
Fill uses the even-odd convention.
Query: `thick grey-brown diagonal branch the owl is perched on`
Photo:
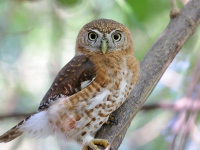
[[[96,134],[96,138],[107,139],[112,143],[112,149],[118,149],[132,119],[199,23],[200,1],[191,0],[180,12],[180,15],[170,21],[167,28],[141,61],[138,85],[131,92],[126,102],[113,113],[118,118],[118,125],[103,126]]]

